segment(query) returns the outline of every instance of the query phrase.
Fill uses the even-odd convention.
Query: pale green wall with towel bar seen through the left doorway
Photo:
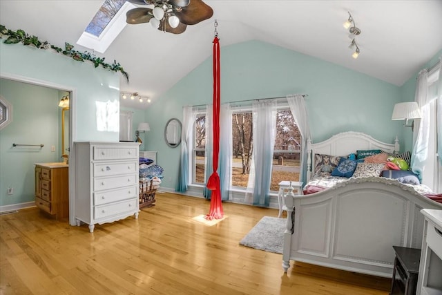
[[[34,198],[34,163],[60,162],[59,91],[1,79],[0,95],[12,104],[12,122],[0,131],[0,204],[16,204]]]

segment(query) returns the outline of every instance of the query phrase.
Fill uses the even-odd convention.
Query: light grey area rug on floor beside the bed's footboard
[[[264,216],[242,238],[240,245],[260,249],[267,252],[282,254],[282,242],[284,240],[285,218]]]

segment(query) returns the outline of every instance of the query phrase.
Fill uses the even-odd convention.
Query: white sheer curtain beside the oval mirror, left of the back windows
[[[187,191],[187,185],[189,184],[189,175],[191,175],[191,163],[192,151],[193,151],[193,124],[196,119],[196,111],[192,106],[184,106],[183,108],[183,122],[181,132],[181,158],[180,169],[178,170],[178,182],[176,191]]]

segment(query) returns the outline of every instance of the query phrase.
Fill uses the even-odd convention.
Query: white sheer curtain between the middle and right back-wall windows
[[[269,207],[270,204],[269,189],[275,145],[276,106],[274,99],[253,102],[253,153],[245,200],[246,202],[250,200],[251,191],[253,191],[251,199],[255,206]]]

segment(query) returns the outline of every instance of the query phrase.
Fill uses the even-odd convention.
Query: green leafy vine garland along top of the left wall
[[[121,72],[122,75],[126,78],[126,81],[129,82],[129,75],[128,73],[123,69],[123,67],[117,63],[116,61],[113,62],[113,64],[106,64],[104,62],[104,57],[95,57],[88,53],[87,51],[84,53],[81,53],[80,51],[73,50],[74,46],[68,44],[67,42],[64,44],[65,49],[59,48],[57,46],[53,46],[48,43],[48,41],[40,41],[38,37],[36,36],[30,36],[26,34],[23,30],[9,30],[5,26],[0,24],[0,39],[3,39],[3,37],[8,37],[4,43],[5,44],[17,44],[17,43],[23,43],[23,45],[28,46],[35,46],[39,49],[53,49],[57,51],[57,53],[62,53],[63,55],[67,55],[69,57],[72,57],[76,61],[91,61],[93,62],[95,68],[98,66],[102,66],[103,68],[106,68],[107,70],[113,70],[114,72]]]

